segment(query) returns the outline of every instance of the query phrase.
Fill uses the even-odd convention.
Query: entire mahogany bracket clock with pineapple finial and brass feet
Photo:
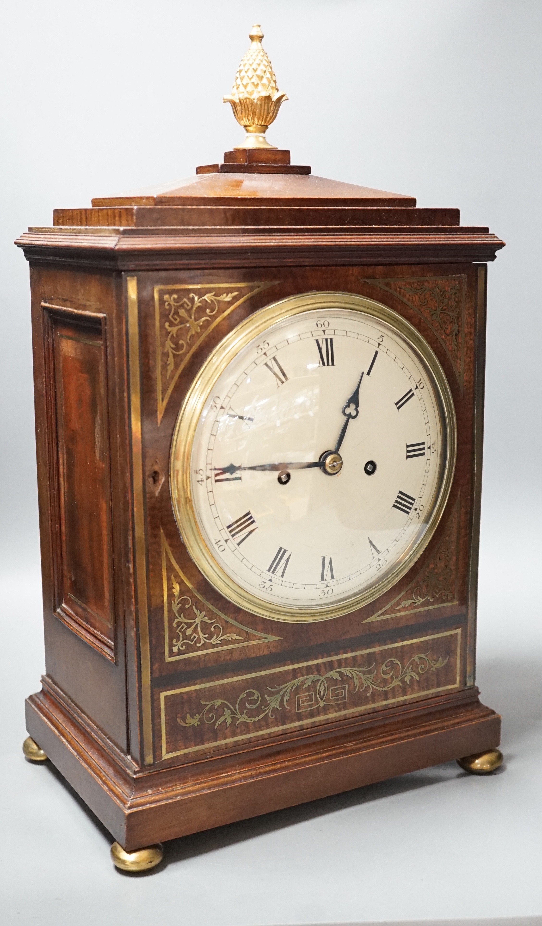
[[[503,242],[291,165],[250,37],[223,164],[18,239],[46,655],[24,751],[126,870],[186,833],[502,761],[474,646]]]

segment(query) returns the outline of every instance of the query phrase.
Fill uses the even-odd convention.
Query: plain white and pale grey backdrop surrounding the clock
[[[542,3],[27,0],[1,18],[8,923],[139,926],[151,908],[205,926],[541,914]],[[289,95],[268,135],[294,163],[459,206],[462,224],[507,242],[489,267],[478,683],[503,713],[508,767],[484,780],[442,766],[191,837],[135,882],[111,870],[106,834],[55,772],[19,753],[43,645],[30,290],[12,242],[55,206],[190,176],[238,144],[221,100],[254,21]]]

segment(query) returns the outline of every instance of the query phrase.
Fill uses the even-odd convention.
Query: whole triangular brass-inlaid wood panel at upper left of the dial
[[[154,286],[158,424],[196,347],[233,310],[274,282],[171,283]]]

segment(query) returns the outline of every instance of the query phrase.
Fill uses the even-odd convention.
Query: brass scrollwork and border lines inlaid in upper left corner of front
[[[154,286],[154,330],[155,330],[155,340],[156,340],[156,408],[157,408],[158,424],[160,424],[162,418],[164,417],[164,412],[166,411],[166,405],[169,400],[169,396],[173,392],[175,383],[178,381],[180,373],[186,367],[188,361],[190,360],[196,348],[199,347],[200,344],[202,344],[204,339],[207,337],[207,335],[210,332],[212,332],[214,328],[216,328],[216,325],[223,319],[226,319],[228,315],[231,312],[233,312],[236,308],[240,307],[241,303],[246,302],[246,300],[250,299],[251,296],[261,293],[265,289],[268,289],[269,286],[277,285],[277,282],[278,281],[272,280],[270,282],[242,282],[242,283],[236,283],[236,282],[172,283],[171,285],[164,285],[161,283],[158,286]],[[204,331],[202,332],[202,334],[200,335],[200,330],[203,326],[203,323],[209,321],[213,316],[215,316],[217,307],[212,312],[205,312],[202,318],[196,319],[195,310],[196,308],[200,307],[200,303],[197,300],[197,296],[191,293],[191,291],[195,291],[195,290],[211,291],[212,290],[213,291],[212,293],[209,292],[206,295],[212,296],[212,298],[215,301],[229,301],[229,298],[233,298],[234,295],[239,295],[239,293],[233,293],[232,290],[246,289],[247,287],[250,287],[250,286],[253,287],[253,289],[251,289],[250,292],[242,295],[240,299],[237,299],[237,301],[234,302],[231,306],[229,306],[225,312],[222,312],[221,315],[218,315],[216,318],[213,318],[213,320],[210,321],[209,326],[206,327]],[[187,314],[186,309],[185,309],[185,316],[183,316],[184,321],[181,323],[182,327],[187,327],[189,329],[187,335],[183,336],[185,347],[181,352],[182,360],[177,369],[171,369],[171,372],[169,375],[171,375],[171,373],[173,374],[172,379],[171,379],[171,382],[169,382],[169,384],[167,385],[166,392],[163,394],[162,354],[164,353],[165,348],[163,348],[162,346],[162,322],[161,322],[161,313],[160,313],[160,295],[162,294],[162,292],[164,292],[165,294],[168,294],[169,292],[173,292],[174,290],[186,290],[189,296],[190,294],[193,294],[194,303],[192,307],[190,306],[188,307],[190,314]],[[172,305],[172,309],[179,307],[179,306],[174,305],[173,303],[171,303],[171,305]],[[167,316],[166,321],[164,322],[164,327],[166,328],[166,332],[168,332],[166,342],[170,340],[170,335],[171,335],[171,327],[168,328],[167,319],[169,319],[169,316]],[[191,346],[189,347],[191,336],[194,333],[199,335],[199,337],[194,342],[194,344],[191,344]],[[171,346],[170,346],[170,351],[171,351]],[[178,353],[178,352],[174,350],[173,354],[175,353]]]

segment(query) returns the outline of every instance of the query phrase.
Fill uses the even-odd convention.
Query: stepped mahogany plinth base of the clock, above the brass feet
[[[127,853],[293,807],[499,745],[478,690],[283,734],[184,767],[137,768],[50,679],[27,700],[27,729]],[[117,863],[116,863],[117,864]]]

